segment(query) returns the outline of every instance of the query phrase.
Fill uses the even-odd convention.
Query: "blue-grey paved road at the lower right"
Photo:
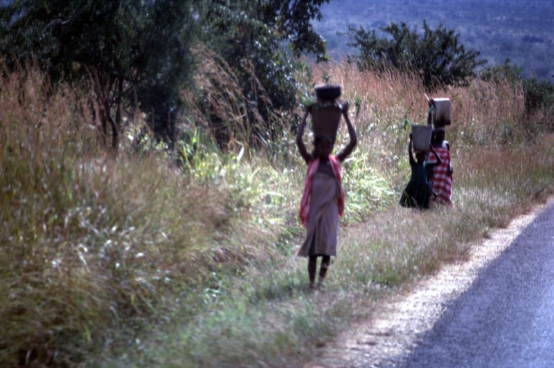
[[[421,337],[401,367],[554,367],[554,205]]]

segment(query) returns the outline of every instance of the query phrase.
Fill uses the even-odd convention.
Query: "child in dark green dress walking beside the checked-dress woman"
[[[406,189],[404,189],[400,197],[400,205],[403,207],[429,208],[431,186],[429,185],[429,181],[427,181],[427,170],[435,168],[436,165],[440,165],[440,163],[443,162],[432,145],[429,145],[429,149],[436,157],[435,163],[425,160],[427,151],[415,151],[416,160],[414,160],[412,152],[412,135],[410,134],[408,156],[410,160],[411,176],[408,185],[406,185]]]

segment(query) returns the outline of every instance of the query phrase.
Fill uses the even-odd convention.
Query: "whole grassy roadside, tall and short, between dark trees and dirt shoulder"
[[[0,362],[294,365],[382,293],[463,257],[553,191],[554,138],[528,135],[519,91],[474,83],[443,92],[457,107],[454,208],[397,208],[406,122],[425,118],[421,86],[345,65],[326,72],[359,102],[360,143],[323,295],[307,293],[305,259],[294,256],[305,167],[291,138],[269,156],[222,154],[199,136],[184,169],[138,154],[129,133],[106,158],[78,96],[39,74],[4,80]]]

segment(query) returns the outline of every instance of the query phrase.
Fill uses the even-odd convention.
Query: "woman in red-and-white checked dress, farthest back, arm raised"
[[[431,124],[432,114],[436,111],[434,100],[429,100],[429,114],[427,124]],[[444,125],[435,126],[431,145],[442,160],[442,163],[435,165],[429,175],[429,184],[432,188],[430,203],[441,205],[452,205],[452,179],[454,169],[450,156],[450,144],[445,140],[446,129]],[[429,157],[429,162],[436,163],[434,157]]]

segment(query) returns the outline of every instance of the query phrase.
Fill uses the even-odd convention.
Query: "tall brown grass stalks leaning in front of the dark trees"
[[[193,124],[210,131],[225,148],[271,144],[279,113],[274,111],[253,63],[247,61],[243,66],[242,73],[249,82],[245,92],[242,81],[220,55],[206,46],[199,46],[194,53],[201,61],[195,73],[196,89],[181,93]]]

